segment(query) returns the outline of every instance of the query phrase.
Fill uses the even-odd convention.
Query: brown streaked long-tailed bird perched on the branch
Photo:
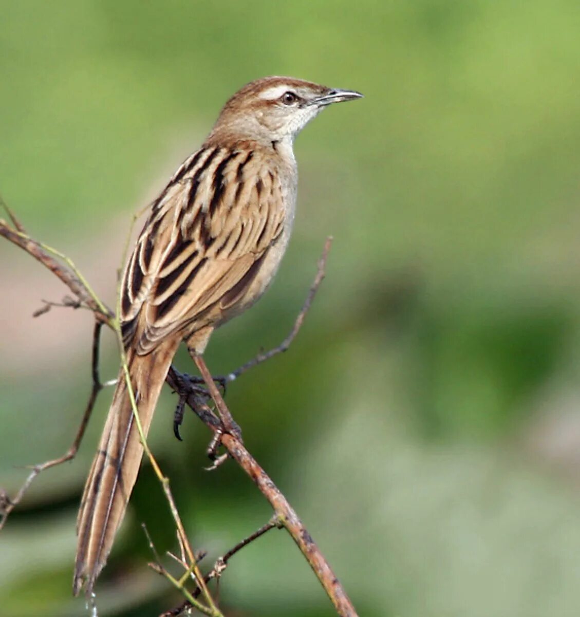
[[[325,107],[360,97],[291,77],[248,83],[152,202],[119,302],[145,435],[180,343],[199,360],[213,330],[249,309],[275,276],[296,210],[294,138]],[[93,594],[141,458],[122,368],[78,513],[75,595],[83,587]]]

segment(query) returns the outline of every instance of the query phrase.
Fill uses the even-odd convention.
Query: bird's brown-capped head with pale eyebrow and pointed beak
[[[291,144],[299,131],[331,103],[362,94],[327,88],[292,77],[265,77],[247,84],[226,102],[209,140],[252,139]]]

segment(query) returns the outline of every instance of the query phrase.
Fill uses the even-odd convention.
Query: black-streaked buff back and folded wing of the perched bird
[[[125,346],[146,353],[216,302],[240,296],[283,230],[281,187],[270,168],[252,150],[209,147],[175,172],[125,268]]]

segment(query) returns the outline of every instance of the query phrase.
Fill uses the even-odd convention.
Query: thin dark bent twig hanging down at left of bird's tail
[[[61,465],[62,463],[65,463],[66,461],[69,461],[72,458],[75,458],[75,456],[77,455],[78,447],[80,445],[80,442],[83,439],[83,436],[86,430],[86,425],[88,424],[89,418],[91,417],[91,413],[93,412],[95,401],[97,400],[97,394],[99,394],[99,392],[101,391],[103,387],[101,380],[99,379],[99,340],[101,338],[101,328],[102,328],[102,322],[95,321],[94,331],[93,331],[93,352],[92,352],[92,359],[91,359],[91,372],[93,375],[93,389],[91,389],[91,395],[89,396],[89,400],[85,408],[85,415],[83,415],[83,419],[81,420],[80,426],[78,427],[77,435],[75,436],[75,439],[72,442],[72,445],[67,450],[67,452],[64,455],[62,455],[62,457],[55,458],[54,460],[46,461],[44,463],[40,463],[39,465],[34,465],[32,467],[32,471],[30,472],[28,478],[25,480],[25,482],[20,487],[19,492],[15,495],[15,497],[12,497],[12,499],[10,498],[7,499],[7,503],[6,505],[4,505],[4,508],[2,509],[2,512],[0,513],[0,529],[4,527],[4,524],[6,524],[6,520],[8,516],[10,515],[10,512],[12,512],[12,510],[14,510],[14,508],[20,503],[20,501],[22,500],[22,497],[24,496],[25,492],[27,492],[28,488],[30,487],[30,485],[32,484],[36,476],[38,476],[44,470],[50,469],[51,467],[56,467],[57,465]]]

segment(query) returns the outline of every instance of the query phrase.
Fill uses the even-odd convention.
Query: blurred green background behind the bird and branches
[[[288,353],[227,400],[367,617],[580,612],[580,4],[574,0],[0,2],[0,193],[114,302],[131,215],[236,89],[293,75],[362,91],[300,135],[296,230],[276,283],[212,339],[230,371],[283,339],[327,234],[328,276]],[[92,320],[0,242],[0,486],[60,455],[90,387]],[[103,378],[116,373],[107,334]],[[191,367],[186,355],[176,362]],[[77,459],[0,534],[0,614],[77,616],[75,514],[110,391]],[[209,433],[151,445],[207,566],[270,510]],[[190,417],[191,416],[191,417]],[[99,614],[180,602],[139,523],[175,550],[149,467],[99,579]],[[334,611],[283,532],[242,551],[226,615]]]

